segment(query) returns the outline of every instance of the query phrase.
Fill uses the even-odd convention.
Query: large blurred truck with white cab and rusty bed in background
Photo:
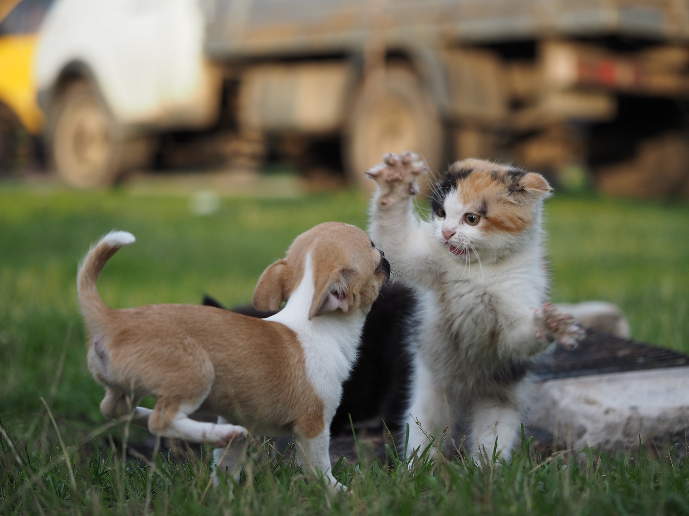
[[[660,196],[688,188],[688,39],[687,0],[58,0],[35,72],[74,186],[182,134],[327,149],[351,184],[412,149]]]

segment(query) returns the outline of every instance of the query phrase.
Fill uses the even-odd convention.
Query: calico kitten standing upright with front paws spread
[[[435,438],[443,451],[463,444],[490,461],[495,447],[506,457],[531,358],[583,337],[571,316],[546,303],[541,213],[551,187],[536,173],[464,160],[435,186],[426,221],[413,205],[423,171],[404,153],[385,155],[367,172],[378,183],[369,235],[418,289],[408,454]]]

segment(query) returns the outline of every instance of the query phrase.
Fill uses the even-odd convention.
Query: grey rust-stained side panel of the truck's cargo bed
[[[216,57],[347,52],[371,39],[409,45],[534,36],[689,35],[689,6],[670,0],[214,0]]]

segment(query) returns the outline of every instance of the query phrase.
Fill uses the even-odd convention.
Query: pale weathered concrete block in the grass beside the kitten
[[[627,451],[639,442],[686,444],[689,367],[667,367],[535,385],[529,428],[545,429],[569,449]]]

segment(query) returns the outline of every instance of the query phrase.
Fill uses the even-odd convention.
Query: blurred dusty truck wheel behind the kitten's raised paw
[[[364,81],[355,95],[344,135],[349,184],[371,191],[374,183],[364,173],[388,152],[418,153],[431,171],[437,171],[443,147],[438,107],[409,68],[393,65]]]

